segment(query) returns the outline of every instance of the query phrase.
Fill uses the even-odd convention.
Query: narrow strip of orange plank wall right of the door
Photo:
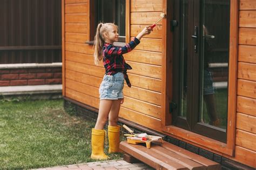
[[[256,1],[240,0],[235,158],[256,167]]]

